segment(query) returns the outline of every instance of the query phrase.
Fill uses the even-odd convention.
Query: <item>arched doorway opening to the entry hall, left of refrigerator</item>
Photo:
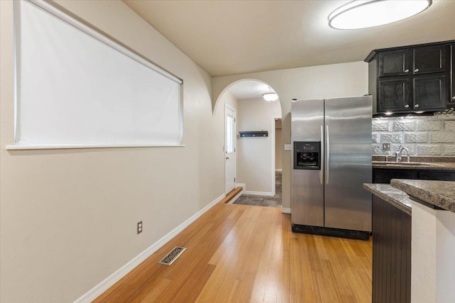
[[[214,116],[223,119],[225,128],[226,194],[239,186],[243,187],[244,194],[256,196],[275,197],[281,192],[275,185],[276,163],[282,162],[277,150],[283,146],[281,143],[276,146],[280,142],[276,140],[276,124],[282,119],[282,110],[279,99],[266,101],[263,98],[263,94],[271,92],[274,89],[265,82],[242,79],[228,85],[216,101]],[[240,136],[240,132],[247,133]],[[278,183],[281,184],[281,180]],[[281,196],[279,198],[281,206]]]

